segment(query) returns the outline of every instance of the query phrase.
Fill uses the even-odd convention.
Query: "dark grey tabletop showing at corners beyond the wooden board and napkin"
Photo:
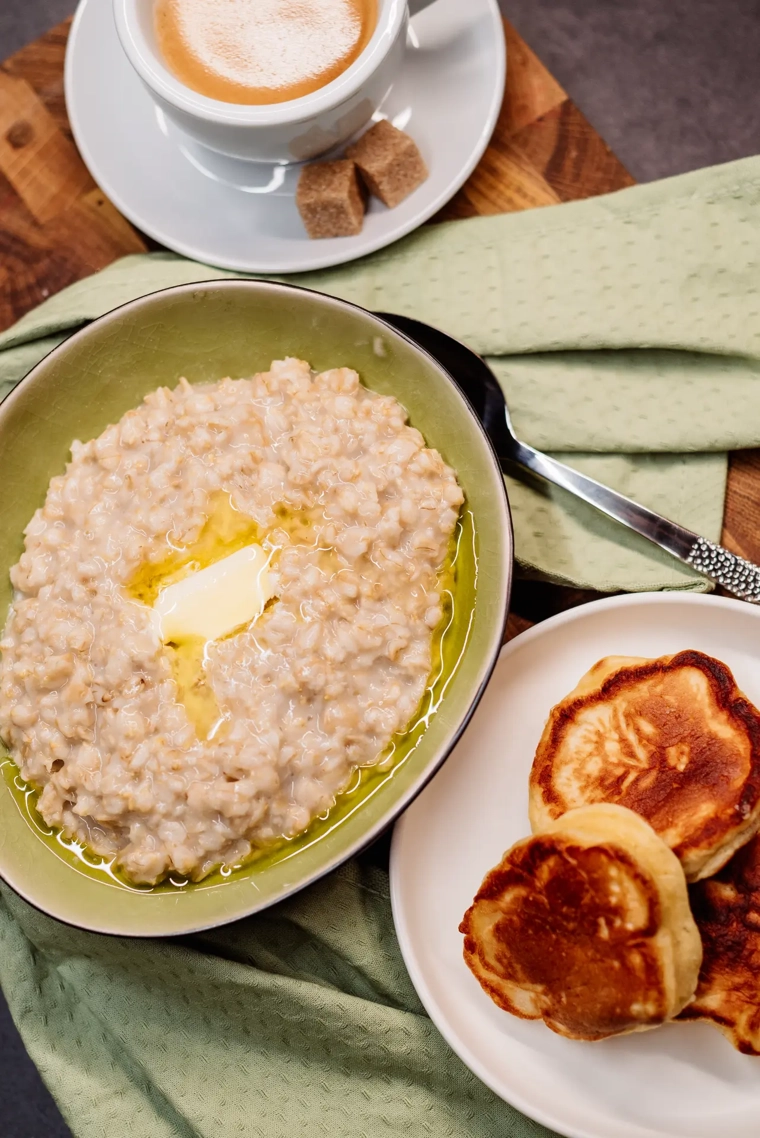
[[[760,0],[501,3],[638,180],[760,149]],[[71,8],[72,0],[0,0],[0,58]],[[66,1138],[5,1006],[0,1070],[0,1138]]]

